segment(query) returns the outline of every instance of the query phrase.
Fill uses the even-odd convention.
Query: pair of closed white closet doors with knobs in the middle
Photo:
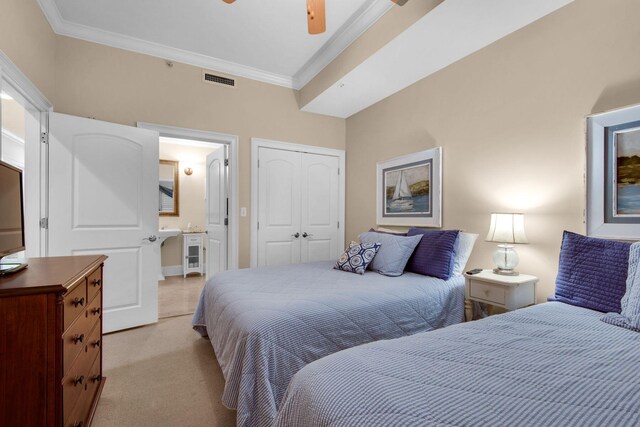
[[[258,266],[336,259],[340,159],[258,149]]]

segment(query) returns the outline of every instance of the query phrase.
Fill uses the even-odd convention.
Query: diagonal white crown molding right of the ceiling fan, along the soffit
[[[362,5],[356,18],[346,22],[293,76],[293,88],[302,89],[320,71],[393,7],[390,1],[372,0]]]

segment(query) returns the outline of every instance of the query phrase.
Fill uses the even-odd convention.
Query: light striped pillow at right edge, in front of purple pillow
[[[627,292],[622,297],[620,305],[620,314],[607,313],[602,321],[640,332],[640,243],[632,244],[629,249]]]

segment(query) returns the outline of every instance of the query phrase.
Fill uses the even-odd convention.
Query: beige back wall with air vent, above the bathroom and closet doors
[[[345,148],[345,120],[298,110],[291,89],[248,79],[202,83],[201,69],[67,37],[56,46],[55,110],[134,126],[137,121],[240,137],[240,206],[250,211],[250,138]],[[240,266],[249,265],[249,216],[240,223]],[[233,219],[232,219],[233,220]]]

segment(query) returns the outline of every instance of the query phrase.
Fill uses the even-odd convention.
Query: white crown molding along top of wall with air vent
[[[60,14],[54,0],[37,0],[51,28],[56,34],[86,40],[118,49],[142,53],[157,58],[181,62],[196,67],[215,70],[237,77],[258,80],[288,88],[293,87],[292,78],[281,74],[270,73],[235,62],[225,61],[183,49],[164,46],[136,37],[125,36],[111,31],[93,28],[65,20]]]

